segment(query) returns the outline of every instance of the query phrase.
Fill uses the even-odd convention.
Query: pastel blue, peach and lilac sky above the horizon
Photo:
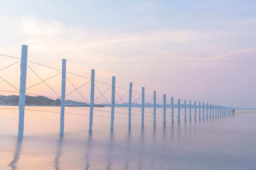
[[[0,54],[20,57],[26,44],[30,61],[61,69],[65,58],[68,72],[90,77],[95,69],[96,80],[111,84],[116,76],[118,87],[128,89],[133,82],[134,91],[144,86],[149,96],[156,90],[158,98],[173,96],[175,103],[256,108],[255,0],[0,2]],[[17,60],[0,61],[2,68]],[[59,73],[29,65],[43,79]],[[16,87],[19,74],[19,64],[0,71]],[[76,87],[87,82],[67,76]],[[27,87],[37,82],[28,70]],[[60,94],[60,75],[47,82]],[[67,93],[73,90],[68,83]],[[2,80],[0,85],[15,90]],[[108,89],[96,85],[101,92]],[[89,86],[80,89],[87,100]],[[43,83],[27,92],[56,97]],[[105,95],[110,102],[110,90]],[[67,98],[83,101],[75,92]],[[101,97],[96,103],[103,102]]]

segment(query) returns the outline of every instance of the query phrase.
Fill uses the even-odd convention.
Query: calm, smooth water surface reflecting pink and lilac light
[[[88,133],[88,116],[66,114],[65,134],[60,138],[60,114],[32,111],[59,112],[59,107],[26,109],[24,138],[20,141],[18,110],[0,110],[0,169],[256,169],[256,113],[193,118],[180,124],[175,120],[172,124],[167,112],[164,126],[158,110],[156,126],[150,121],[152,114],[146,113],[149,121],[145,121],[144,129],[140,120],[132,120],[129,131],[128,120],[121,119],[128,115],[120,114],[127,111],[116,109],[120,113],[115,117],[120,118],[115,119],[114,132],[110,132],[110,118],[94,117],[92,134]],[[75,108],[65,112],[89,114]],[[109,112],[94,114],[110,116]]]

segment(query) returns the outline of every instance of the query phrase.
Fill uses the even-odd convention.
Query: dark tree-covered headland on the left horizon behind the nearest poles
[[[17,106],[19,104],[19,96],[9,95],[3,96],[0,95],[0,105],[7,105],[7,106]],[[60,106],[60,99],[50,99],[44,96],[28,96],[26,95],[25,99],[26,106]],[[79,106],[79,107],[89,107],[88,103],[84,102],[76,102],[72,100],[66,100],[65,106]],[[94,107],[104,107],[100,104],[94,104]]]

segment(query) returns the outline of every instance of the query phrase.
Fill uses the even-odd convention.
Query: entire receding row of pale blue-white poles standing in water
[[[28,58],[28,46],[22,45],[21,49],[21,62],[20,62],[20,97],[19,97],[19,130],[18,137],[22,138],[24,133],[24,110],[25,110],[25,95],[26,95],[26,77],[27,77],[27,58]],[[89,132],[92,132],[93,122],[93,107],[94,107],[94,81],[95,81],[95,70],[91,70],[91,97],[90,97],[90,117],[89,117]],[[112,77],[112,92],[111,92],[111,121],[110,130],[114,130],[114,114],[115,114],[115,87],[116,77]],[[65,112],[65,92],[66,92],[66,59],[62,59],[62,79],[61,79],[61,103],[60,103],[60,136],[64,134],[64,112]],[[145,87],[142,87],[141,92],[141,125],[144,126],[144,110],[145,110]],[[154,124],[156,124],[156,91],[154,91]],[[163,121],[166,123],[166,95],[163,95]],[[173,97],[171,97],[171,108],[172,108],[172,122],[174,121],[174,103]],[[189,101],[189,120],[191,120],[191,101]],[[194,117],[196,120],[196,102],[194,103]],[[203,103],[203,117],[204,117],[204,103]],[[210,109],[210,117],[214,117],[214,105],[206,103],[206,117],[208,117],[208,109]],[[234,115],[235,110],[226,108],[223,106],[215,106],[215,117],[222,115]],[[184,100],[185,120],[187,119],[187,105]],[[129,104],[128,104],[128,126],[131,128],[131,116],[132,116],[132,82],[129,86]],[[180,122],[180,99],[178,99],[178,121]],[[199,118],[201,117],[201,103],[199,102]]]

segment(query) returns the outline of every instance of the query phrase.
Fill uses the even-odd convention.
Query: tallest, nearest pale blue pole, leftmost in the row
[[[19,97],[19,128],[18,138],[23,138],[24,132],[24,111],[26,97],[26,79],[27,79],[27,60],[28,46],[21,46],[21,61],[20,61],[20,97]]]

